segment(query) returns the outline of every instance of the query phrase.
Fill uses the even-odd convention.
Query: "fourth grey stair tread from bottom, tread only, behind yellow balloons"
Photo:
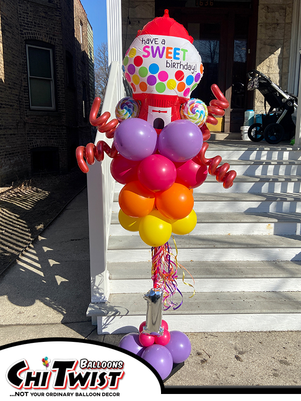
[[[197,212],[198,223],[300,223],[301,213],[257,213],[257,212]],[[118,215],[112,214],[111,224],[119,224]]]

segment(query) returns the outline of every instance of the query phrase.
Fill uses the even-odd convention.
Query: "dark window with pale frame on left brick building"
[[[26,45],[31,109],[55,109],[52,49]]]

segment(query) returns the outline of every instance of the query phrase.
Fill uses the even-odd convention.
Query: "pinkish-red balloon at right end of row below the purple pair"
[[[198,164],[196,158],[193,158],[185,163],[177,163],[176,182],[188,188],[196,188],[205,181],[207,174],[207,166]]]

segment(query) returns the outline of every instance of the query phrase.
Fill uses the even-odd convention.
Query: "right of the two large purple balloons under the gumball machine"
[[[160,154],[174,162],[195,157],[203,145],[200,128],[189,120],[176,120],[166,125],[158,138]]]

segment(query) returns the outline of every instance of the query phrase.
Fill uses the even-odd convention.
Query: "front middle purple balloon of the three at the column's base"
[[[166,379],[173,368],[173,357],[163,345],[154,344],[146,347],[142,358],[152,365],[160,374],[162,380]]]

